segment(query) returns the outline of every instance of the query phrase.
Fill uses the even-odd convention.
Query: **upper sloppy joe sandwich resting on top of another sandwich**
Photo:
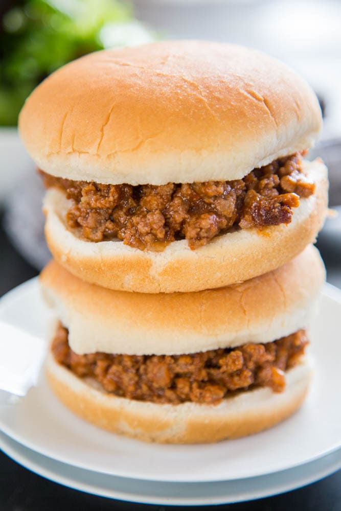
[[[327,170],[308,84],[232,44],[105,50],[53,73],[19,118],[48,191],[46,238],[74,275],[172,293],[274,270],[321,228]]]

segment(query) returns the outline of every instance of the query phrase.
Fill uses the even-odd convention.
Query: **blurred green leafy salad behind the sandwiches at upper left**
[[[7,4],[0,27],[0,125],[5,126],[16,125],[27,96],[55,69],[103,49],[104,27],[132,20],[129,3],[119,0],[28,0]]]

